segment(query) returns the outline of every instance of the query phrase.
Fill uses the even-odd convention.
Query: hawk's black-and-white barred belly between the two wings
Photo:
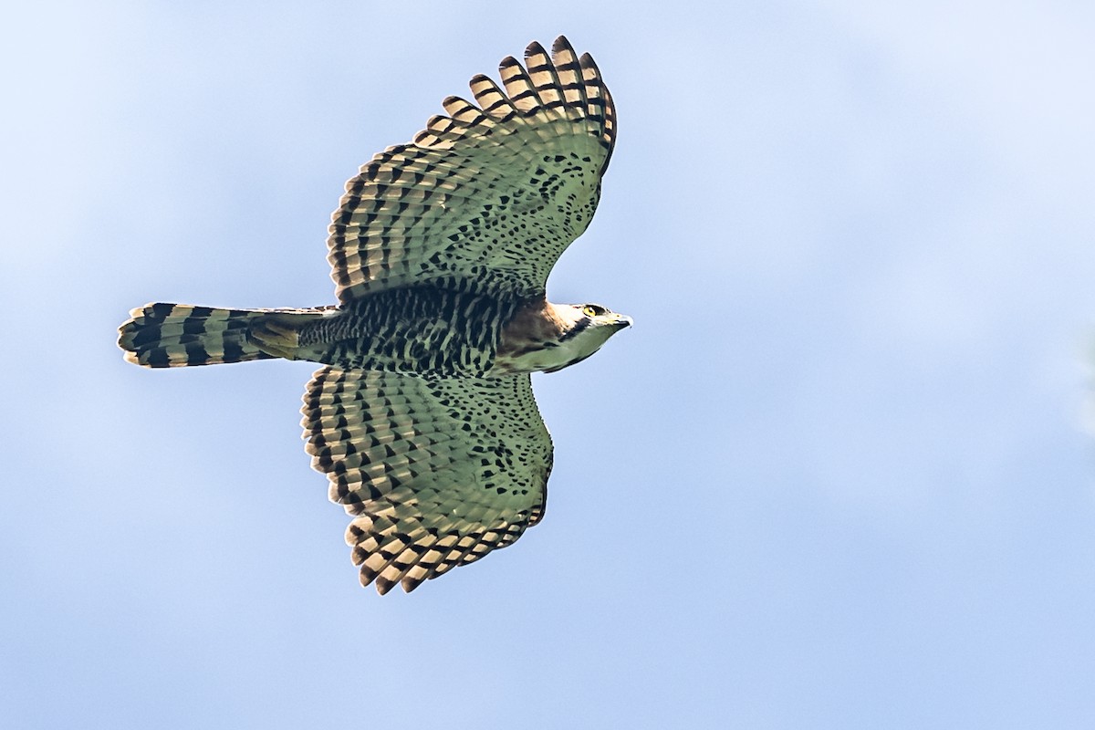
[[[485,374],[516,302],[437,287],[353,300],[299,331],[299,357],[424,376]]]

